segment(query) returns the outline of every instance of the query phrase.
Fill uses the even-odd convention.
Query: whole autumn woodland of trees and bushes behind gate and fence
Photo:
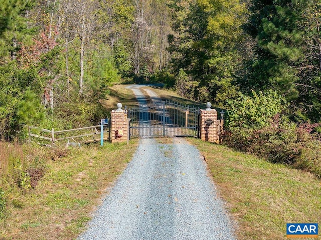
[[[113,84],[161,82],[228,109],[227,145],[313,168],[320,24],[319,0],[2,0],[0,138],[89,125]]]

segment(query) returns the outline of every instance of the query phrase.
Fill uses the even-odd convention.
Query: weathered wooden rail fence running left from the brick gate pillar
[[[54,128],[52,128],[52,130],[49,130],[34,126],[25,127],[29,128],[29,137],[49,140],[52,143],[62,140],[68,140],[67,145],[69,144],[70,140],[82,143],[99,142],[101,140],[101,129],[103,129],[103,140],[110,140],[110,124],[62,131],[55,131]],[[37,132],[37,134],[35,132]]]

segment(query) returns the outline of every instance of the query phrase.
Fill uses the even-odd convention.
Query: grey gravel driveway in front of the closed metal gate
[[[142,138],[83,239],[236,239],[199,151]]]

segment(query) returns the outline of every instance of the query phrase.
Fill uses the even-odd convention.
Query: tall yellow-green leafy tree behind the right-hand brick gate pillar
[[[199,101],[223,103],[233,97],[245,5],[239,1],[177,0],[171,9],[175,34],[169,36],[169,43],[175,71],[183,68],[199,82],[194,96]]]

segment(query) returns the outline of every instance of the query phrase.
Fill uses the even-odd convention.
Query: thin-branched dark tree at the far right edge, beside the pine
[[[300,81],[295,83],[299,92],[294,111],[296,120],[321,120],[321,2],[309,1],[301,12],[299,29],[304,58],[298,69]]]

